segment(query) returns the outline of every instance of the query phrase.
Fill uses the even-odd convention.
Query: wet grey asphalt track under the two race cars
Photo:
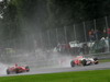
[[[24,75],[24,74],[42,74],[42,73],[57,73],[57,72],[70,72],[70,71],[87,71],[87,70],[105,70],[110,69],[110,62],[102,62],[99,65],[86,66],[86,67],[57,67],[57,68],[30,68],[30,72],[10,74],[10,75]],[[0,77],[10,77],[6,74],[0,74]]]

